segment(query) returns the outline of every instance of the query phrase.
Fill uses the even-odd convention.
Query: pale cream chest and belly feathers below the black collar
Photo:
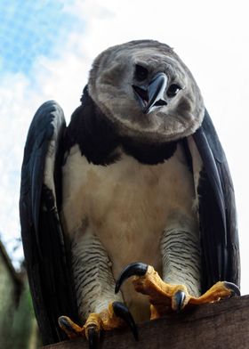
[[[96,166],[76,145],[62,175],[61,218],[68,236],[75,239],[87,226],[120,265],[142,260],[156,266],[170,215],[176,211],[189,218],[195,215],[193,176],[180,146],[163,164],[142,165],[123,154],[114,164]]]

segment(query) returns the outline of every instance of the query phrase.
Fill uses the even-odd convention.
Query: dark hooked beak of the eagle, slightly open
[[[148,87],[133,85],[133,91],[144,114],[149,114],[155,108],[167,105],[164,98],[167,81],[166,74],[159,72],[149,82]]]

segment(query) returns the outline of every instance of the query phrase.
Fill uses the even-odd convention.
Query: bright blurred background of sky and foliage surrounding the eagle
[[[26,326],[26,342],[17,344],[16,339],[16,346],[4,347],[37,345],[22,267],[18,204],[20,166],[31,118],[42,102],[53,99],[69,121],[79,105],[92,60],[108,46],[133,39],[171,45],[203,93],[235,185],[241,290],[249,294],[247,17],[247,4],[242,0],[1,0],[0,347],[4,336],[11,337],[6,335],[6,325],[13,321],[15,338],[20,326]],[[10,316],[4,316],[7,312]]]

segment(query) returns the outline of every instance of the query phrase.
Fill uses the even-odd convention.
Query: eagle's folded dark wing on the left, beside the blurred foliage
[[[65,127],[60,106],[54,101],[44,103],[29,128],[21,169],[21,235],[30,290],[44,344],[65,338],[58,325],[60,315],[76,318],[57,202],[52,188],[44,183],[49,147],[52,140],[55,146],[60,142]],[[55,168],[51,183],[58,173]],[[58,186],[57,191],[60,191]]]

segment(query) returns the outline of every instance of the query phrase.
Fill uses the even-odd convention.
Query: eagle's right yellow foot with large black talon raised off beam
[[[200,297],[189,295],[184,285],[165,283],[154,268],[147,264],[129,264],[116,281],[116,292],[124,280],[134,276],[133,285],[137,292],[149,296],[150,319],[157,319],[168,312],[180,311],[187,304],[205,304],[219,301],[221,298],[240,295],[237,286],[231,282],[219,281]]]

